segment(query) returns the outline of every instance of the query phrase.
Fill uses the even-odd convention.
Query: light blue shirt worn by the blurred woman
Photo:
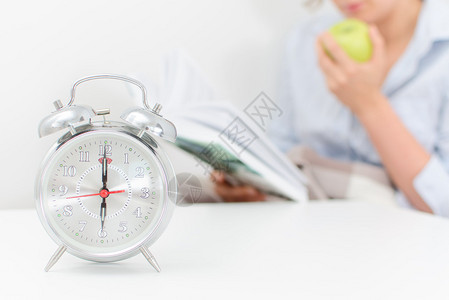
[[[366,131],[328,91],[318,66],[316,37],[341,19],[337,13],[314,18],[293,32],[286,48],[278,99],[284,115],[273,124],[271,137],[284,151],[301,144],[326,157],[380,166],[380,157]],[[447,1],[424,1],[414,37],[382,90],[404,125],[432,154],[414,179],[416,191],[435,214],[449,217]],[[402,193],[397,199],[410,206]]]

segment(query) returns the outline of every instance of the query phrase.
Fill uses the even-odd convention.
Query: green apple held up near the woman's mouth
[[[371,59],[373,45],[366,23],[357,19],[346,19],[332,26],[329,33],[353,60],[362,63]],[[330,55],[332,56],[332,53]]]

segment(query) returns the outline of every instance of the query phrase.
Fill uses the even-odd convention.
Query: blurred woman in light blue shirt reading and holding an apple
[[[272,139],[284,151],[383,166],[403,206],[449,216],[449,5],[441,0],[333,0],[341,15],[301,25],[288,42]],[[356,63],[327,29],[370,26],[373,56]],[[330,58],[323,45],[332,53]],[[288,109],[287,109],[288,108]],[[262,200],[216,176],[225,201]]]

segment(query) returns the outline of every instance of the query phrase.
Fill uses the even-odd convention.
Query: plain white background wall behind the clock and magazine
[[[301,0],[2,4],[0,208],[33,207],[38,165],[56,141],[56,136],[39,139],[38,123],[53,110],[54,100],[68,101],[76,79],[97,73],[142,74],[157,83],[164,53],[182,47],[218,98],[249,103],[261,91],[275,95],[283,40],[308,13]],[[123,95],[127,93],[119,86],[93,99],[84,88],[77,101],[114,110]]]

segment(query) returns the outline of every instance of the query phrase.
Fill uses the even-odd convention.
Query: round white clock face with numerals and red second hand
[[[166,174],[153,151],[126,133],[90,131],[64,143],[40,186],[45,222],[70,249],[119,255],[141,245],[164,212]]]

